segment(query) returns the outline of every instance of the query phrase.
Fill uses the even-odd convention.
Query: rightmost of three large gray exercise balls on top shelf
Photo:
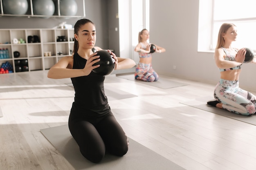
[[[73,16],[76,15],[77,4],[75,0],[60,0],[61,15]]]

